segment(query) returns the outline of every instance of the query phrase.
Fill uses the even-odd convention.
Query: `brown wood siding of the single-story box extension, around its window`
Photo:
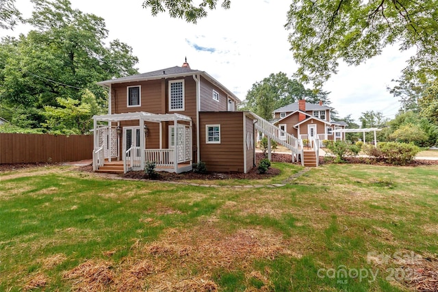
[[[242,111],[199,113],[201,161],[208,171],[244,172],[244,133]],[[220,124],[220,144],[205,142],[207,124]]]

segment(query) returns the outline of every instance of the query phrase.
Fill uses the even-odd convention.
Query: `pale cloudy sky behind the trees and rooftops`
[[[136,66],[139,72],[181,66],[187,57],[190,68],[207,72],[243,101],[254,83],[278,72],[292,78],[298,68],[289,51],[289,32],[284,28],[290,4],[287,0],[232,0],[229,10],[218,5],[196,25],[166,13],[151,16],[149,9],[142,8],[143,0],[70,2],[74,9],[105,19],[109,31],[106,42],[119,39],[129,44],[140,61]],[[33,4],[16,0],[16,8],[29,17]],[[0,37],[26,34],[30,28],[19,25],[14,31],[0,29]],[[400,77],[412,53],[389,47],[360,66],[341,62],[337,74],[322,88],[331,92],[331,107],[339,117],[351,114],[358,123],[361,113],[371,110],[394,118],[400,103],[387,87]]]

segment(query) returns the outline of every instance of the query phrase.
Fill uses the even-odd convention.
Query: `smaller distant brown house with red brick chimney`
[[[345,140],[345,133],[335,132],[345,129],[346,122],[331,120],[333,107],[307,103],[300,100],[273,111],[271,121],[281,130],[300,140]]]

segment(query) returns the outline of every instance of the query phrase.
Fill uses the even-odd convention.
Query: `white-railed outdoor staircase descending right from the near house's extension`
[[[318,166],[317,157],[319,157],[319,141],[316,139],[313,141],[312,146],[309,150],[304,150],[302,145],[302,140],[298,139],[294,135],[291,135],[279,127],[276,127],[271,122],[253,114],[257,118],[257,122],[255,123],[255,129],[257,131],[263,133],[269,139],[275,141],[277,144],[285,146],[287,149],[292,151],[292,162],[298,161],[298,157],[300,157],[301,165],[303,166]],[[268,147],[268,151],[270,152],[270,147]]]

